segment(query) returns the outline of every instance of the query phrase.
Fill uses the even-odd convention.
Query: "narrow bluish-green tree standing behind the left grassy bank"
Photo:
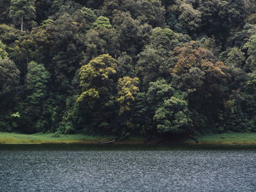
[[[31,61],[25,80],[26,103],[23,104],[21,126],[27,133],[47,131],[50,129],[45,121],[43,110],[47,99],[47,84],[50,73],[42,64]],[[26,124],[26,126],[24,126]]]

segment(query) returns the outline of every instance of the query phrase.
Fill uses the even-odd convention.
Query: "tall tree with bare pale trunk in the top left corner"
[[[20,30],[23,31],[24,20],[35,18],[36,9],[34,0],[12,0],[9,16],[15,23],[20,23]]]

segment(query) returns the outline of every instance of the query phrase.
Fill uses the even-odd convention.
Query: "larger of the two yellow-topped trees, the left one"
[[[116,59],[108,54],[99,55],[80,68],[80,88],[77,99],[86,114],[87,123],[100,132],[112,132],[116,114]]]

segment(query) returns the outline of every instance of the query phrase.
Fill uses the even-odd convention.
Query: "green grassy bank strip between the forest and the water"
[[[256,145],[256,133],[254,134],[212,134],[206,136],[197,136],[199,145]],[[81,143],[81,144],[97,144],[106,142],[110,139],[116,139],[113,136],[87,136],[83,134],[59,135],[55,134],[18,134],[18,133],[1,133],[0,144],[61,144],[61,143]],[[130,137],[124,139],[121,144],[133,145],[144,144],[146,139],[143,137]],[[151,144],[159,143],[161,139],[151,141]],[[177,142],[176,142],[177,143]],[[181,144],[195,145],[195,140],[184,139]]]

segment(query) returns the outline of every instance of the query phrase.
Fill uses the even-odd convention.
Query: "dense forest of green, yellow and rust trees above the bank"
[[[0,131],[256,131],[256,0],[1,0]]]

